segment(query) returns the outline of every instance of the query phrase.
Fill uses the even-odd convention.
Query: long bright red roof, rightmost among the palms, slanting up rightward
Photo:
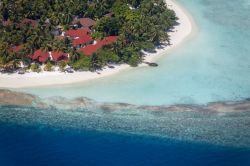
[[[80,52],[82,52],[85,55],[92,55],[95,53],[98,49],[102,48],[104,45],[112,44],[117,40],[118,36],[109,36],[104,38],[103,40],[98,40],[96,44],[87,45],[86,47],[82,47],[79,49]]]

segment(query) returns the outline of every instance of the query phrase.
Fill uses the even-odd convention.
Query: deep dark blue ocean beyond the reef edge
[[[249,166],[250,149],[95,131],[0,125],[0,165]]]

